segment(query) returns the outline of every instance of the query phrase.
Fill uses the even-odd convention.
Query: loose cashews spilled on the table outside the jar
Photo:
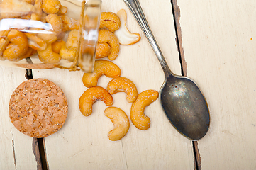
[[[96,55],[94,72],[83,74],[82,82],[88,89],[79,98],[79,109],[84,116],[89,116],[93,112],[93,104],[96,101],[104,101],[108,106],[104,115],[111,119],[114,126],[113,130],[108,132],[108,138],[115,141],[121,140],[127,134],[130,120],[139,130],[150,128],[150,118],[144,114],[144,110],[146,106],[157,100],[158,92],[145,90],[138,94],[133,81],[121,77],[121,69],[113,63],[118,56],[120,45],[132,45],[140,40],[138,33],[130,33],[126,28],[126,11],[121,9],[118,13],[101,13],[100,28],[97,52],[101,54]],[[108,59],[102,60],[103,57]],[[103,75],[113,78],[108,82],[106,89],[97,86]],[[130,120],[121,108],[112,107],[114,102],[112,95],[118,92],[125,92],[126,101],[131,103]]]

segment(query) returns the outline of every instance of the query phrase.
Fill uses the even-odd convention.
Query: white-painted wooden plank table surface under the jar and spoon
[[[94,104],[89,117],[79,112],[79,97],[87,89],[82,72],[33,70],[34,78],[60,86],[69,103],[65,125],[43,139],[42,149],[42,140],[38,145],[9,120],[9,98],[26,81],[26,69],[1,66],[0,169],[256,169],[256,1],[140,0],[140,4],[169,67],[194,79],[204,92],[211,113],[206,136],[191,142],[180,135],[157,100],[145,109],[150,129],[130,124],[128,134],[112,142],[107,135],[113,124],[104,116],[103,102]],[[122,45],[114,63],[139,92],[159,90],[162,68],[126,4],[103,0],[103,11],[116,13],[121,8],[128,13],[130,31],[142,39]],[[110,80],[101,77],[99,86],[106,88]],[[113,98],[113,106],[130,115],[125,94]]]

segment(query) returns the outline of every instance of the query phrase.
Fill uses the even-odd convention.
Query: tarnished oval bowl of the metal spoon
[[[182,135],[191,140],[206,135],[210,124],[208,106],[193,80],[170,75],[160,90],[160,102],[167,118]]]

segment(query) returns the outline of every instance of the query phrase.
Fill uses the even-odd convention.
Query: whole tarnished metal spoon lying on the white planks
[[[210,114],[204,95],[192,79],[173,74],[152,35],[138,0],[123,0],[143,30],[165,72],[160,103],[170,122],[190,140],[200,140],[208,131]]]

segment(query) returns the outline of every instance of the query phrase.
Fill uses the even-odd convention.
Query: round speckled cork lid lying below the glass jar
[[[30,79],[13,91],[9,115],[20,132],[40,138],[60,130],[67,108],[67,98],[59,86],[47,79]]]

